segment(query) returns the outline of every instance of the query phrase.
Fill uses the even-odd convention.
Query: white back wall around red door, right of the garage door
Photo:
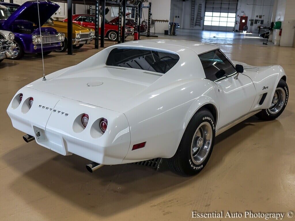
[[[258,33],[258,24],[250,26],[250,19],[263,20],[262,26],[271,26],[274,0],[239,0],[237,5],[237,16],[248,16],[248,32]],[[259,18],[262,15],[262,18]],[[256,17],[258,16],[258,17]],[[240,17],[236,17],[235,29],[239,30]]]

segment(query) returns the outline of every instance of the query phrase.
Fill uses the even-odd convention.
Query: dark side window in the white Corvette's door
[[[219,80],[234,74],[235,67],[220,52],[220,50],[210,51],[199,55],[206,78],[212,81]]]

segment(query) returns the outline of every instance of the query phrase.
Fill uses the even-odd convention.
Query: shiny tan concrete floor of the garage
[[[158,171],[115,165],[91,174],[85,169],[86,159],[24,143],[24,134],[12,127],[6,108],[19,88],[42,76],[42,60],[26,55],[0,63],[0,220],[162,221],[191,220],[192,211],[294,211],[295,48],[230,35],[204,32],[173,38],[216,43],[231,59],[250,65],[280,64],[291,96],[277,120],[252,117],[218,136],[207,166],[188,178],[169,171],[165,161]],[[51,53],[44,60],[46,74],[98,52],[92,48],[83,46],[73,56]]]

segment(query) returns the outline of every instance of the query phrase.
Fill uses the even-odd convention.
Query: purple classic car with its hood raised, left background
[[[1,4],[1,3],[0,3]],[[4,17],[0,17],[0,29],[11,31],[15,35],[16,44],[15,55],[10,59],[20,59],[25,53],[41,53],[41,39],[43,54],[47,55],[51,51],[60,50],[65,35],[58,33],[55,29],[41,27],[39,29],[39,17],[37,1],[27,1],[19,6],[14,12],[4,11]],[[59,8],[58,4],[50,1],[39,1],[40,26]]]

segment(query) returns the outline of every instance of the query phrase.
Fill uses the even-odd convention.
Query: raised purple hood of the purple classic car
[[[40,26],[42,26],[58,8],[59,5],[53,2],[39,1]],[[27,1],[19,6],[19,8],[2,23],[2,27],[8,29],[16,20],[27,20],[39,26],[37,1]]]

